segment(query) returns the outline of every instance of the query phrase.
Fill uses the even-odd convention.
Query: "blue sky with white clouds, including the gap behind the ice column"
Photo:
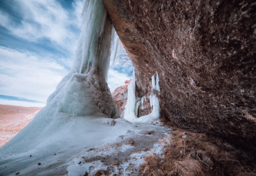
[[[0,0],[0,104],[45,106],[71,70],[82,8],[82,0]],[[111,92],[130,79],[130,65],[111,61]]]

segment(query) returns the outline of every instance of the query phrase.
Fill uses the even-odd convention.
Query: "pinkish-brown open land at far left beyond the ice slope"
[[[39,110],[41,108],[0,105],[0,147],[15,137]]]

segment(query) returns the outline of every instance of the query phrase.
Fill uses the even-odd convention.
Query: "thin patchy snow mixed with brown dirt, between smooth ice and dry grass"
[[[146,128],[151,130],[145,130]],[[147,135],[149,132],[154,135]],[[68,175],[77,175],[77,172],[82,175],[85,170],[89,175],[95,175],[95,170],[109,170],[111,175],[140,175],[138,168],[145,162],[145,157],[164,156],[163,148],[170,144],[170,133],[171,129],[161,126],[161,123],[157,126],[140,124],[132,133],[127,133],[135,140],[134,144],[124,144],[125,141],[122,141],[122,144],[111,144],[99,150],[89,150],[80,157],[72,159],[68,164]]]

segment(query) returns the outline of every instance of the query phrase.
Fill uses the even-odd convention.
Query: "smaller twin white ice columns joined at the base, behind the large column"
[[[125,116],[124,118],[131,122],[151,122],[160,116],[160,106],[158,101],[158,95],[160,95],[160,87],[159,87],[159,77],[156,72],[156,80],[155,76],[152,76],[152,90],[149,96],[150,106],[153,108],[152,113],[149,115],[145,115],[142,117],[138,117],[138,105],[140,101],[136,101],[136,79],[135,76],[131,79],[131,82],[128,86],[128,99],[127,105],[125,106]],[[141,104],[143,106],[144,97],[141,99]]]

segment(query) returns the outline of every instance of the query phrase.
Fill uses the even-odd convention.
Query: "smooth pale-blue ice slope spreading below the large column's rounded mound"
[[[61,166],[80,151],[116,141],[120,135],[134,129],[123,119],[81,117],[66,113],[55,113],[51,118],[44,118],[48,113],[52,115],[53,112],[46,108],[41,110],[35,117],[37,119],[28,124],[15,140],[0,149],[0,174],[41,173],[38,163],[46,167],[44,170],[48,170],[51,164]]]

